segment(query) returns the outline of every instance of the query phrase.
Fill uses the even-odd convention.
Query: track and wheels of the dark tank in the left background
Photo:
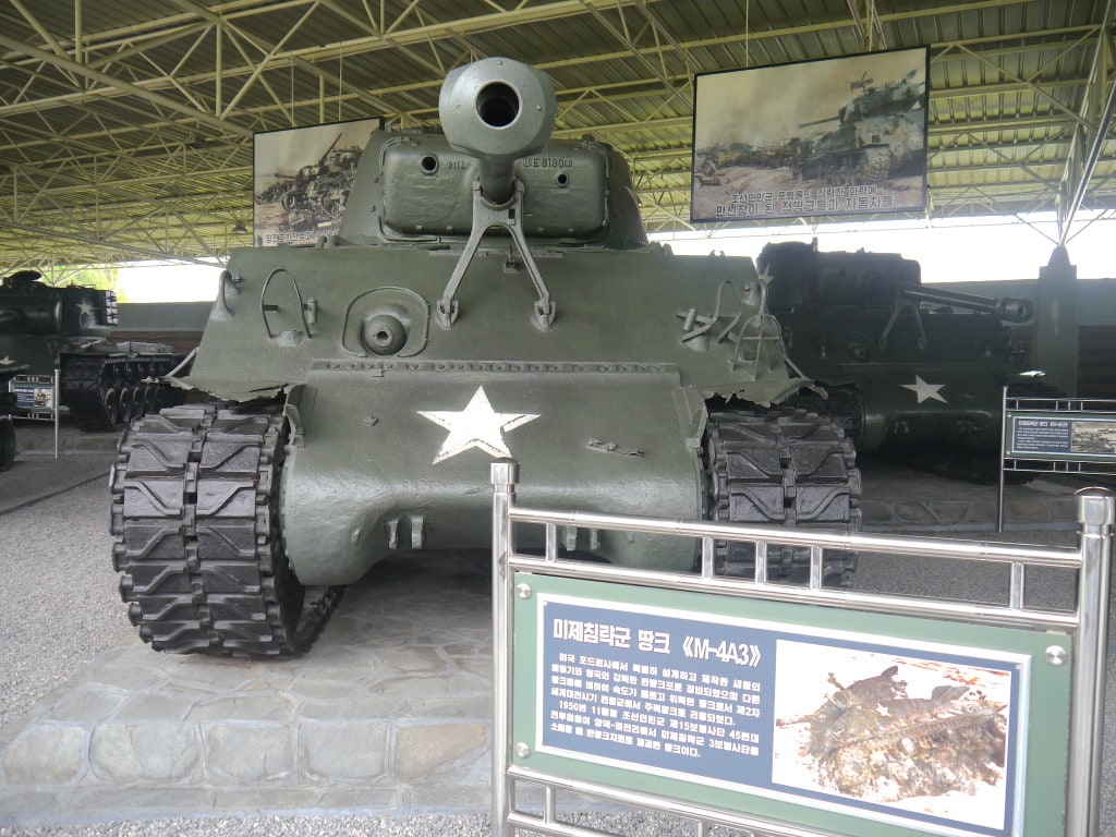
[[[173,369],[180,355],[62,354],[61,403],[85,432],[119,430],[135,417],[181,401],[164,384],[144,384]]]

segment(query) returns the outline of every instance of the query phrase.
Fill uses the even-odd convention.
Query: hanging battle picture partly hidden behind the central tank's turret
[[[360,153],[379,128],[375,118],[257,134],[252,143],[256,246],[312,244],[335,234]]]

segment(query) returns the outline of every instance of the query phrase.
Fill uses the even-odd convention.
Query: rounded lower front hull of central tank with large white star
[[[676,369],[454,365],[316,369],[291,394],[301,434],[283,472],[282,529],[305,584],[348,584],[414,550],[487,548],[493,454],[532,474],[526,502],[702,517],[699,451],[675,410]],[[676,538],[559,537],[565,549],[627,566],[687,571],[694,560]],[[541,543],[537,531],[520,541]]]

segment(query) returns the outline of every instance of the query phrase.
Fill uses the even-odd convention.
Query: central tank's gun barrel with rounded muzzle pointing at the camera
[[[550,138],[555,92],[533,67],[485,58],[446,75],[437,109],[450,145],[479,161],[481,194],[501,205],[516,193],[516,161]]]

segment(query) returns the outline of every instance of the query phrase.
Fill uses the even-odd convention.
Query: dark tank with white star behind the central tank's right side
[[[833,415],[862,454],[994,481],[1003,387],[1057,394],[1024,374],[1006,325],[1030,320],[1030,300],[927,288],[917,261],[817,239],[769,243],[757,266],[792,362],[826,391],[793,402]]]

